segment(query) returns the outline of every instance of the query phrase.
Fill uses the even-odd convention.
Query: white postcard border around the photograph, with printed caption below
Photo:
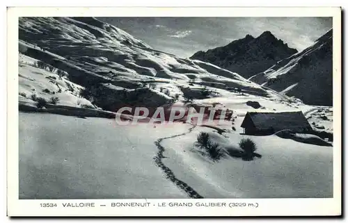
[[[18,160],[18,17],[333,17],[333,198],[328,199],[83,199],[19,200]],[[313,216],[340,215],[341,210],[341,8],[8,8],[8,144],[9,216]],[[91,203],[95,208],[64,208],[64,203]],[[150,202],[143,207],[111,207],[111,203]],[[192,207],[170,207],[191,202]],[[256,204],[239,208],[198,207],[197,202]],[[42,208],[40,204],[57,204]],[[158,204],[166,203],[166,207]],[[100,206],[105,204],[106,206]]]

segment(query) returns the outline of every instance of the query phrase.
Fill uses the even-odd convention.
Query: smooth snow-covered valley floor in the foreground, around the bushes
[[[194,146],[200,131],[229,147],[237,147],[246,135],[190,128],[182,123],[117,126],[113,119],[21,112],[19,198],[189,198],[191,189],[204,198],[333,195],[333,147],[248,136],[262,158],[226,156],[214,162]],[[166,172],[154,160],[161,138]]]

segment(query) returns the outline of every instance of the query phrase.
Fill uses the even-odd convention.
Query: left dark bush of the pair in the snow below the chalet
[[[221,149],[219,149],[219,144],[212,142],[209,140],[208,133],[201,132],[197,136],[198,146],[201,149],[205,150],[205,153],[212,158],[212,160],[219,160],[223,153]]]

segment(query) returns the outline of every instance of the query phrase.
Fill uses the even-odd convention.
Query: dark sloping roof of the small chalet
[[[252,123],[245,122],[247,117],[251,118]],[[285,113],[246,113],[242,123],[243,128],[248,128],[253,124],[256,129],[293,129],[311,128],[306,117],[301,111]]]

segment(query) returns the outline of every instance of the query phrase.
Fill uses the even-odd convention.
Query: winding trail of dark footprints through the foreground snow
[[[169,138],[175,138],[175,137],[179,137],[182,135],[186,135],[188,133],[191,133],[191,131],[195,128],[196,126],[192,126],[188,132],[186,133],[181,133],[178,135],[172,135],[169,137],[165,137],[165,138],[159,138],[159,140],[157,140],[155,142],[157,148],[158,148],[158,152],[157,155],[155,156],[154,160],[156,165],[161,168],[161,170],[164,171],[164,174],[166,176],[166,179],[169,179],[170,181],[172,181],[173,183],[175,183],[175,185],[177,185],[177,187],[181,188],[182,190],[184,190],[184,192],[187,193],[187,195],[191,198],[203,198],[201,195],[198,194],[198,192],[196,192],[196,190],[193,190],[193,188],[191,188],[189,185],[187,185],[187,183],[185,183],[184,181],[180,181],[180,179],[177,179],[173,173],[173,171],[171,169],[169,169],[168,167],[166,167],[166,165],[164,165],[164,163],[162,162],[162,158],[164,158],[163,156],[163,152],[164,152],[164,147],[161,145],[161,142],[163,140],[169,139]]]

